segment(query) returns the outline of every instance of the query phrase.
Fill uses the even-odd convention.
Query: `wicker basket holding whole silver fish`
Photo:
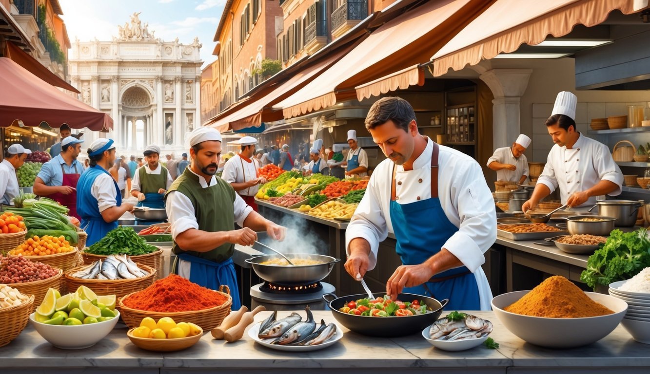
[[[138,292],[144,290],[145,288],[153,284],[155,279],[156,269],[151,268],[150,266],[137,264],[141,269],[144,269],[149,272],[148,275],[136,278],[136,279],[114,279],[114,280],[102,280],[102,279],[80,279],[73,277],[72,274],[75,271],[79,271],[84,268],[86,265],[79,266],[74,269],[66,271],[64,278],[66,279],[66,285],[68,290],[76,290],[79,286],[86,286],[93,290],[98,295],[116,295],[116,297],[123,297],[129,293]]]

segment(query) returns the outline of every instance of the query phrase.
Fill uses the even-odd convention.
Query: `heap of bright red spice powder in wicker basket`
[[[171,274],[151,286],[133,293],[122,303],[129,308],[149,312],[190,312],[223,305],[228,297]]]

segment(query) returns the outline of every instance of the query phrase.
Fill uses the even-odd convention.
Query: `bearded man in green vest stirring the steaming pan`
[[[256,231],[283,240],[285,228],[254,212],[230,184],[214,177],[222,142],[216,129],[198,127],[189,142],[192,163],[165,195],[177,255],[175,273],[212,290],[229,286],[236,310],[241,303],[231,258],[235,244],[253,245]],[[243,229],[235,230],[235,223]]]

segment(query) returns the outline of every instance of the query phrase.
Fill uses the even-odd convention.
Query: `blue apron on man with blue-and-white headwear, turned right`
[[[88,234],[88,238],[86,238],[87,246],[99,242],[99,240],[106,236],[109,231],[117,229],[118,227],[117,221],[110,223],[104,221],[99,212],[98,201],[90,193],[92,184],[101,173],[110,175],[106,169],[99,165],[91,166],[86,169],[81,177],[79,177],[79,182],[77,182],[77,213],[81,216],[81,227]],[[117,201],[117,206],[120,206],[122,205],[120,188],[118,188],[118,184],[114,180],[113,184],[115,184],[115,199]]]

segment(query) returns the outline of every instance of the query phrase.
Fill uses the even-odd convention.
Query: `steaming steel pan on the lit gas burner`
[[[251,265],[257,276],[267,282],[279,284],[307,284],[315,283],[324,279],[330,274],[334,264],[340,262],[340,258],[333,258],[325,255],[311,255],[309,253],[292,253],[292,258],[305,258],[317,260],[322,264],[316,265],[296,265],[296,266],[279,266],[263,265],[260,262],[281,258],[278,255],[264,255],[248,258],[246,262]]]

